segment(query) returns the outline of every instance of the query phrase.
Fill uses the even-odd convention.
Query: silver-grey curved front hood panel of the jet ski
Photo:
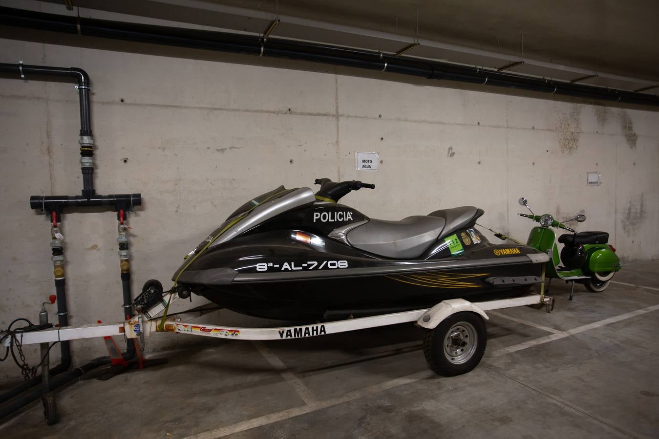
[[[227,242],[272,217],[314,201],[316,197],[309,188],[285,189],[283,186],[252,199],[194,247],[171,280],[177,282],[181,273],[209,247]]]

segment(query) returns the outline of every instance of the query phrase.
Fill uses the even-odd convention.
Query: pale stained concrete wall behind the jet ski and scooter
[[[183,255],[249,197],[324,176],[375,183],[375,191],[345,197],[375,218],[476,205],[486,211],[481,224],[525,240],[532,224],[515,215],[524,195],[536,213],[565,219],[585,212],[579,229],[610,232],[623,261],[659,257],[659,113],[284,64],[9,39],[0,39],[0,53],[1,62],[90,73],[96,189],[144,197],[130,217],[136,292],[149,278],[167,286]],[[82,182],[72,84],[0,79],[0,112],[4,328],[15,317],[36,320],[54,292],[49,224],[30,211],[28,198],[78,194]],[[378,151],[380,170],[357,172],[355,151]],[[603,184],[588,188],[587,171],[601,172]],[[119,320],[116,225],[107,212],[64,217],[72,324]],[[161,336],[150,350],[191,341]],[[100,340],[73,349],[77,362],[105,352]],[[36,359],[36,349],[26,351]],[[18,369],[0,364],[0,378],[9,376]]]

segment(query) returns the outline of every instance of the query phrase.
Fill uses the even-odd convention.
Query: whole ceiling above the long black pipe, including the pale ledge
[[[57,4],[58,13],[67,13],[63,1],[47,1]],[[659,92],[657,0],[72,0],[72,4],[86,16],[94,16],[93,10],[109,11],[261,34],[278,17],[281,22],[273,37],[389,53],[418,42],[405,56]],[[47,12],[54,12],[53,7],[49,5]]]

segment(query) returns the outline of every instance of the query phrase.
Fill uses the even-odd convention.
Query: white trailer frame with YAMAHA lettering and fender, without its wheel
[[[525,305],[544,305],[547,311],[551,311],[554,305],[552,297],[544,294],[530,294],[523,297],[510,299],[499,299],[482,302],[470,302],[465,299],[447,299],[441,301],[430,309],[418,309],[401,313],[375,315],[372,317],[360,317],[327,323],[305,324],[302,326],[281,326],[275,328],[242,328],[231,326],[217,326],[215,324],[190,323],[192,319],[198,318],[208,312],[204,309],[198,311],[186,311],[179,313],[177,317],[158,318],[158,315],[167,308],[167,301],[173,301],[177,296],[167,294],[163,300],[154,305],[146,313],[140,313],[129,321],[121,323],[86,324],[82,326],[65,326],[63,328],[53,327],[33,332],[22,332],[18,335],[20,344],[39,344],[51,342],[63,342],[81,338],[97,338],[107,336],[126,336],[127,338],[140,338],[141,349],[144,349],[145,338],[151,334],[162,332],[177,332],[179,334],[192,334],[197,336],[229,338],[231,340],[284,340],[289,338],[303,338],[310,336],[321,336],[336,334],[364,328],[387,326],[390,324],[416,322],[422,328],[435,329],[440,323],[451,315],[463,311],[480,315],[488,319],[486,311],[492,309],[503,309]],[[215,311],[215,309],[213,310]],[[147,318],[146,316],[149,316]],[[9,346],[11,338],[5,340],[5,346]]]

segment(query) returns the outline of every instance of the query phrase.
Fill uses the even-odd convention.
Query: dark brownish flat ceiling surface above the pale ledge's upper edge
[[[657,0],[210,0],[659,80]],[[397,28],[396,28],[397,24]]]

